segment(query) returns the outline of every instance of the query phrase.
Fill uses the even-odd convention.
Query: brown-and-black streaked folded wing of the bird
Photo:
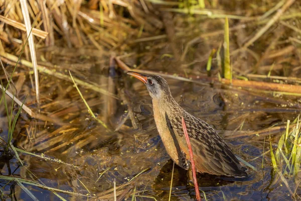
[[[184,114],[184,119],[199,172],[228,176],[246,174],[230,147],[213,128],[189,113]],[[177,132],[184,135],[183,130],[177,129]]]

